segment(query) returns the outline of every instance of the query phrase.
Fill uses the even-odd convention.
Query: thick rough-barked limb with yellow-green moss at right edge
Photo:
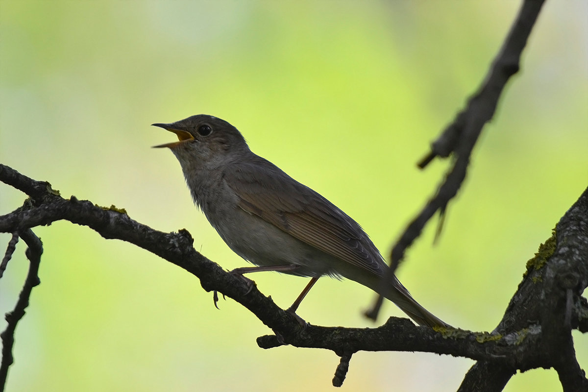
[[[540,344],[527,353],[524,367],[557,370],[564,390],[588,390],[588,380],[576,360],[571,330],[585,321],[588,286],[588,188],[557,223],[553,236],[527,263],[527,272],[512,297],[495,333],[520,330],[529,324],[542,327]],[[460,390],[498,391],[500,387],[477,388],[485,380],[503,380],[516,368],[495,361],[480,361],[466,374]]]

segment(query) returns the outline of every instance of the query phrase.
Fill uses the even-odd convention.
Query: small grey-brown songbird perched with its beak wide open
[[[448,326],[417,303],[396,276],[382,292],[389,267],[362,227],[253,153],[229,122],[201,114],[152,125],[178,137],[154,147],[173,152],[195,205],[229,248],[255,265],[234,273],[278,271],[311,278],[288,311],[295,313],[316,281],[330,276],[381,292],[419,325]]]

